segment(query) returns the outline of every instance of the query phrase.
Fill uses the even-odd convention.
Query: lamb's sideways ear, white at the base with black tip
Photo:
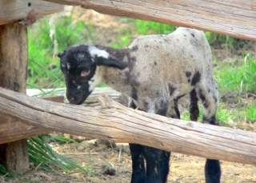
[[[97,66],[110,66],[116,67],[119,70],[123,70],[127,67],[126,63],[118,61],[116,58],[113,58],[106,50],[100,50],[95,46],[89,47],[90,55],[94,59],[94,63]]]

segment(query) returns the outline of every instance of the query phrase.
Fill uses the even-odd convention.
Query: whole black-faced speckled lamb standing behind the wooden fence
[[[71,46],[59,56],[70,103],[80,104],[103,82],[133,98],[130,106],[178,118],[176,101],[190,93],[194,96],[191,108],[195,110],[191,114],[196,120],[197,93],[204,108],[203,121],[218,125],[215,118],[218,89],[212,73],[210,46],[202,31],[179,28],[168,35],[141,36],[120,50],[87,44]],[[82,70],[89,72],[82,74]],[[166,181],[170,153],[143,145],[130,145],[130,150],[132,182]],[[208,160],[206,167],[206,181],[219,182],[218,161]]]

